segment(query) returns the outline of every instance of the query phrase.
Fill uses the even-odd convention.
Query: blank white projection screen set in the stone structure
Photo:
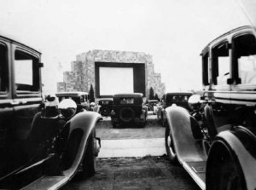
[[[133,93],[133,68],[99,67],[100,95]]]

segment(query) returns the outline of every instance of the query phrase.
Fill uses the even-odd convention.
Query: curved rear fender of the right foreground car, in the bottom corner
[[[237,135],[236,131],[239,131],[240,134]],[[256,188],[255,135],[251,135],[250,131],[247,129],[238,127],[234,131],[220,132],[217,139],[226,142],[231,148],[232,152],[235,153],[238,162],[241,164],[241,170],[245,177],[247,189],[254,190]],[[212,144],[212,147],[213,146],[214,142]],[[248,149],[250,151],[248,151]]]

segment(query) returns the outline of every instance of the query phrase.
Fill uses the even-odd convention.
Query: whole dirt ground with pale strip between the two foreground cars
[[[182,166],[172,165],[166,160],[166,156],[163,155],[166,153],[165,149],[157,152],[160,153],[159,156],[143,154],[142,157],[137,157],[142,155],[145,149],[149,150],[147,153],[154,155],[154,149],[165,148],[165,129],[157,122],[155,115],[149,115],[148,124],[143,129],[113,129],[110,118],[103,118],[102,123],[96,126],[96,134],[102,138],[99,156],[105,152],[105,158],[103,156],[103,158],[96,158],[96,175],[88,179],[76,176],[62,188],[63,190],[200,189]],[[158,139],[162,141],[160,147],[154,147],[154,143],[153,145],[149,143]],[[107,141],[113,142],[113,145],[108,147]],[[120,148],[118,145],[121,141],[125,141],[125,145],[121,145],[122,150],[119,150],[119,152],[123,151],[122,156],[113,158],[116,157],[113,156],[114,154],[117,155],[114,152]],[[139,141],[143,141],[143,144],[139,144]],[[140,149],[136,149],[137,147]],[[136,156],[125,157],[127,152],[132,152]]]

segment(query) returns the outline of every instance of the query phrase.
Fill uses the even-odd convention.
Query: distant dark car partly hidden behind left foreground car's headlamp
[[[77,112],[81,112],[83,110],[90,110],[90,102],[88,100],[88,93],[87,92],[58,92],[55,94],[59,101],[65,99],[72,99],[77,104]]]

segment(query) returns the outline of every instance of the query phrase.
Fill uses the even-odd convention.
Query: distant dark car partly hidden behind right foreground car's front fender
[[[163,95],[162,104],[156,109],[156,115],[160,123],[165,126],[166,124],[166,107],[171,107],[172,104],[176,104],[179,107],[189,108],[189,97],[193,95],[191,92],[168,92]]]

